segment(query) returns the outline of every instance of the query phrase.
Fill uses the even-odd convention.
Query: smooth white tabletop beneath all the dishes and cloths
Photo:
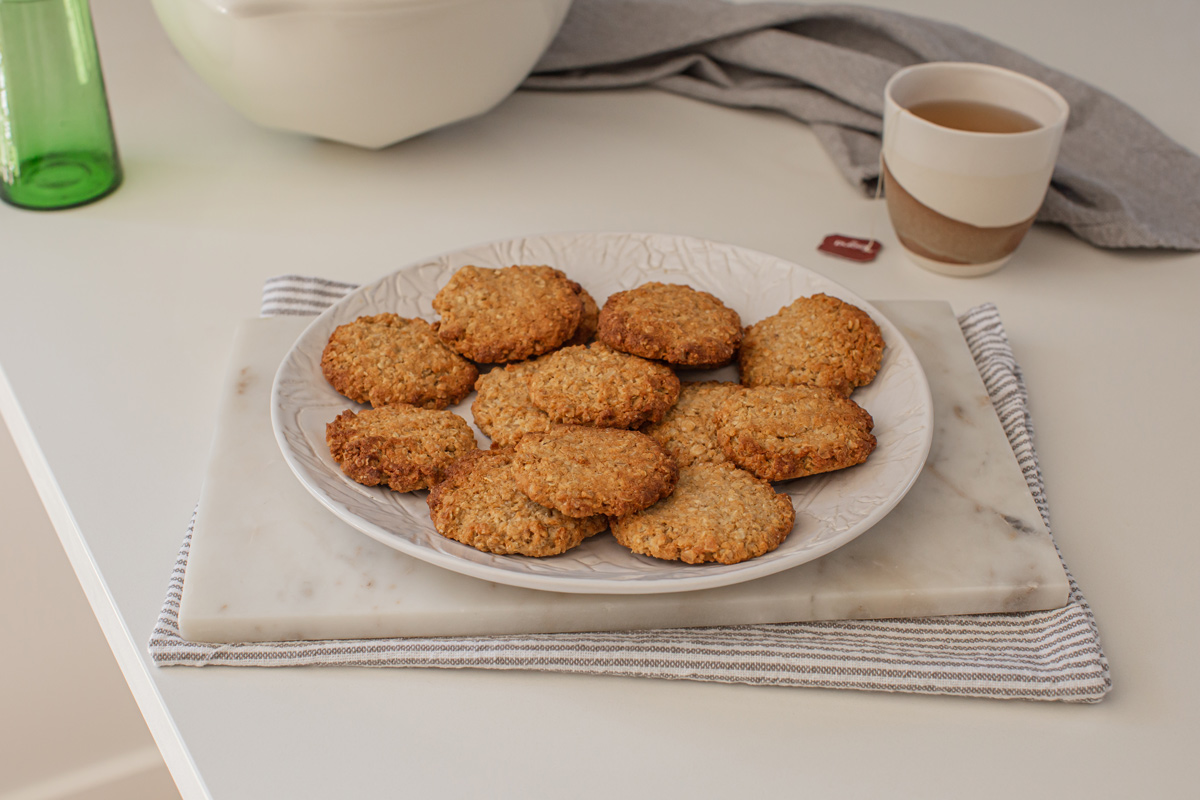
[[[886,5],[1103,86],[1200,151],[1189,0]],[[271,133],[186,67],[149,4],[94,11],[126,184],[72,211],[0,207],[0,411],[185,798],[1194,792],[1200,254],[1104,252],[1038,227],[992,276],[923,272],[804,126],[649,90],[518,92],[380,152]],[[874,264],[815,252],[872,221]],[[560,230],[688,234],[869,299],[995,302],[1030,386],[1055,536],[1110,660],[1108,699],[154,667],[145,645],[234,330],[263,281],[365,282]]]

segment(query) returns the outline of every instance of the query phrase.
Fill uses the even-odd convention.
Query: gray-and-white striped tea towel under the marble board
[[[263,315],[316,314],[355,287],[282,276]],[[1049,506],[1033,450],[1021,371],[995,306],[959,318],[1043,519]],[[904,620],[541,633],[458,638],[208,644],[179,634],[191,529],[150,639],[160,666],[472,667],[820,686],[923,694],[1097,703],[1111,688],[1096,620],[1075,579],[1054,610]],[[1060,553],[1061,557],[1061,553]]]

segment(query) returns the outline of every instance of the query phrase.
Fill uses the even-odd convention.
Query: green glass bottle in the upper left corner
[[[88,0],[0,0],[0,198],[67,209],[120,184]]]

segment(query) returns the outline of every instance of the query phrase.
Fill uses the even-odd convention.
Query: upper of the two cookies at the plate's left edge
[[[320,371],[358,403],[410,403],[445,408],[470,392],[475,365],[454,353],[424,319],[359,317],[338,325],[320,356]]]

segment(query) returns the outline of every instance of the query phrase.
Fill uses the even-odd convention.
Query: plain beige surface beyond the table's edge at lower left
[[[0,422],[0,800],[179,793]]]

